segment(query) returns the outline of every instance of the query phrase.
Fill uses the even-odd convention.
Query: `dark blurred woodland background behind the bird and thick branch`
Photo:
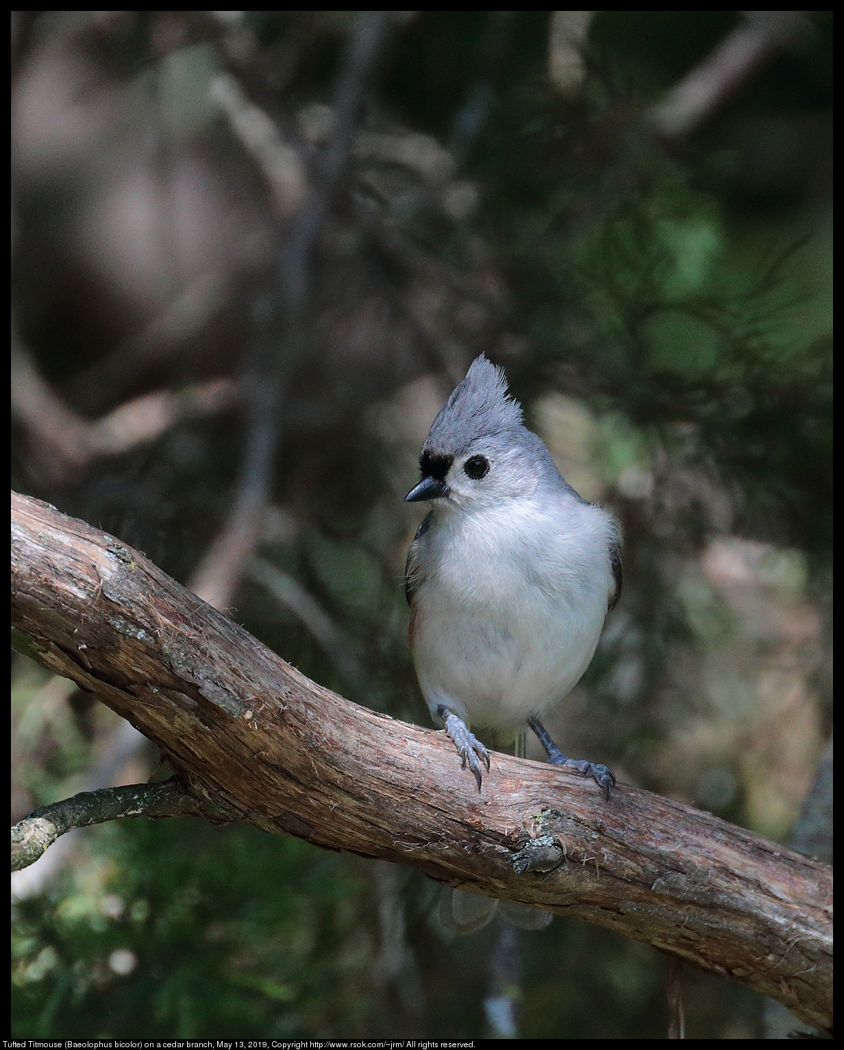
[[[830,16],[18,12],[12,59],[13,486],[428,724],[402,496],[483,351],[625,536],[554,735],[787,841],[831,737]],[[12,680],[13,820],[162,775]],[[15,1034],[664,1036],[654,949],[455,939],[436,898],[252,828],[75,833],[13,880]],[[684,987],[689,1036],[797,1027]]]

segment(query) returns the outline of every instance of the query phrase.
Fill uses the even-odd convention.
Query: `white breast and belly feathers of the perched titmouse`
[[[414,659],[431,711],[521,731],[583,675],[612,588],[612,519],[574,498],[436,513],[413,555]]]

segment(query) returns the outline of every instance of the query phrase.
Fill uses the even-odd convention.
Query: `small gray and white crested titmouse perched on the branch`
[[[523,754],[529,726],[550,762],[609,799],[612,770],[567,758],[540,718],[579,680],[618,601],[618,532],[522,420],[504,372],[481,355],[430,427],[405,497],[431,501],[407,552],[410,648],[435,723],[479,791],[489,754],[471,729],[516,753],[521,738]]]

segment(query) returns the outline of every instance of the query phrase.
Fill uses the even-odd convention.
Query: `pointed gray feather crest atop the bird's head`
[[[522,420],[522,406],[507,393],[504,370],[481,354],[434,420],[425,450],[459,455],[477,438],[516,429]]]

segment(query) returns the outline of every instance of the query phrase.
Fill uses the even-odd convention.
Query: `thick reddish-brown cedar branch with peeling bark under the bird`
[[[153,740],[216,820],[410,864],[645,941],[831,1028],[832,869],[628,784],[610,802],[309,680],[142,554],[12,497],[16,648]]]

